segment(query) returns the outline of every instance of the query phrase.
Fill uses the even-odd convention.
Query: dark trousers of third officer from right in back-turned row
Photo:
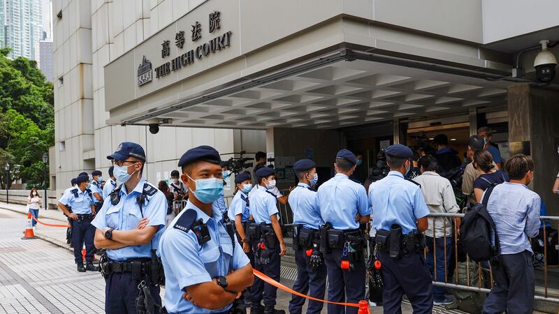
[[[293,284],[293,290],[303,294],[309,292],[310,297],[324,299],[326,291],[326,264],[322,264],[317,271],[312,271],[307,263],[309,257],[303,248],[295,251],[295,262],[297,264],[297,281]],[[289,313],[300,314],[305,304],[305,298],[293,294],[289,302]],[[307,314],[320,313],[324,303],[309,300]]]

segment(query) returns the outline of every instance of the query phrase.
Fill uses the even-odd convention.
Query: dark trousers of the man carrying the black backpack
[[[534,305],[534,255],[530,251],[504,254],[491,264],[493,287],[484,304],[484,313],[532,313]]]

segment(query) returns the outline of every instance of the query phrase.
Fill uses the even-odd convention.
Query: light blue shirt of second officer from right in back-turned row
[[[331,223],[334,229],[356,230],[359,228],[359,222],[355,221],[357,213],[361,216],[371,214],[365,188],[342,173],[324,182],[317,197],[322,220]]]

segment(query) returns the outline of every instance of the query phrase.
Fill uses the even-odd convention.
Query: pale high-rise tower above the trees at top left
[[[11,47],[9,57],[35,59],[35,45],[43,39],[41,0],[0,1],[0,45]]]

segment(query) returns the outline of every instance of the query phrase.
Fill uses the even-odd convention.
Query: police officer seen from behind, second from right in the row
[[[321,230],[321,251],[328,273],[328,301],[358,303],[365,297],[365,242],[360,224],[368,223],[365,188],[349,176],[357,158],[351,151],[337,152],[335,176],[319,187],[320,215],[326,223]],[[328,304],[328,313],[357,313],[357,308]]]

